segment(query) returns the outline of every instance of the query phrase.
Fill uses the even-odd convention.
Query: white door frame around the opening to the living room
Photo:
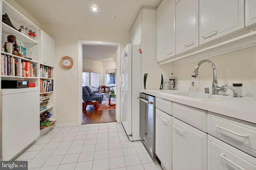
[[[77,89],[78,89],[78,98],[77,98],[77,125],[82,125],[82,70],[83,70],[83,45],[112,45],[116,46],[116,121],[120,121],[120,51],[121,45],[116,42],[105,42],[105,41],[87,41],[87,40],[78,40],[78,78],[77,78]]]

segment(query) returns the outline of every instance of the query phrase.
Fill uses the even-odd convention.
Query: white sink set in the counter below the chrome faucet
[[[173,96],[188,100],[198,100],[198,101],[218,101],[218,100],[253,100],[255,97],[233,97],[232,95],[222,95],[222,94],[207,94],[200,92],[185,92],[185,91],[164,91],[159,92],[160,94]]]

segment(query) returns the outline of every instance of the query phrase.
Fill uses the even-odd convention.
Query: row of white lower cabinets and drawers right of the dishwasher
[[[256,124],[156,97],[163,170],[256,170]]]

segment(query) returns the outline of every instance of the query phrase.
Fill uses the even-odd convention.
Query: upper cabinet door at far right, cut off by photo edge
[[[256,24],[256,0],[245,0],[245,26]]]

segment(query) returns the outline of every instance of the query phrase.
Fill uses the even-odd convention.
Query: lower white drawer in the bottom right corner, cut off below
[[[208,135],[208,170],[255,170],[256,158]]]

